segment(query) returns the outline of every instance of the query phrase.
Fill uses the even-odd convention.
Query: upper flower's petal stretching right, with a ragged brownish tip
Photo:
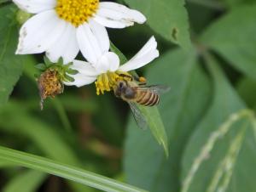
[[[94,20],[107,27],[124,28],[134,25],[135,22],[143,24],[146,18],[139,11],[127,8],[122,4],[102,2]]]

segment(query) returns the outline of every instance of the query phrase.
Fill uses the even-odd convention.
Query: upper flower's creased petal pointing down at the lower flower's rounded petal
[[[77,39],[84,58],[91,64],[96,64],[102,54],[108,52],[110,46],[106,28],[97,24],[94,20],[79,25]]]

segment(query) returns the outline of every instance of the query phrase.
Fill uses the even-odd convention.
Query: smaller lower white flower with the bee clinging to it
[[[151,37],[144,47],[127,63],[119,65],[119,57],[112,52],[90,53],[90,63],[74,60],[71,68],[79,71],[74,75],[74,82],[65,82],[66,85],[81,87],[96,82],[97,94],[110,91],[115,82],[123,77],[120,74],[130,75],[128,71],[136,70],[147,65],[159,56],[157,42]]]

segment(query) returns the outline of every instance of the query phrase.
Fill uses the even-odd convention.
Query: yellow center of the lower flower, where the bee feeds
[[[127,72],[120,71],[103,73],[97,77],[97,81],[95,82],[96,94],[104,94],[105,91],[109,92],[113,90],[113,87],[121,80],[132,81],[133,77]]]

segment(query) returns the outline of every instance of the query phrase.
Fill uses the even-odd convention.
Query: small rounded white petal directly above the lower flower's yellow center
[[[94,67],[98,73],[105,73],[107,71],[117,71],[119,63],[119,56],[113,52],[108,52],[102,55]]]

